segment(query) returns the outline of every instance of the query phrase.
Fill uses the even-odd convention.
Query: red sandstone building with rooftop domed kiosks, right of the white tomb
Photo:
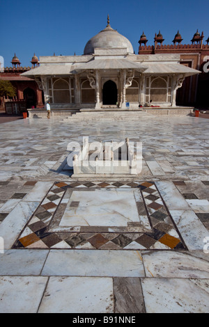
[[[164,45],[162,33],[155,33],[154,44],[147,45],[148,40],[144,32],[139,39],[139,54],[178,54],[180,56],[180,64],[196,70],[200,70],[201,74],[186,77],[183,86],[178,89],[176,95],[176,104],[187,106],[209,106],[209,74],[203,69],[204,65],[209,61],[209,38],[206,44],[203,44],[203,32],[197,30],[194,33],[191,44],[183,44],[182,35],[179,31],[173,38],[173,44]],[[209,67],[209,65],[207,66]]]

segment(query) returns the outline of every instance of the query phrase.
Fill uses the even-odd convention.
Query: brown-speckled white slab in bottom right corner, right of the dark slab
[[[205,279],[146,278],[142,280],[146,312],[206,313],[208,283]]]

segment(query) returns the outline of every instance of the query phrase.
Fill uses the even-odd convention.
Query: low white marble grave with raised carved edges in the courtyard
[[[137,175],[141,172],[141,143],[137,146],[128,138],[122,142],[88,143],[73,157],[72,177],[88,175]]]

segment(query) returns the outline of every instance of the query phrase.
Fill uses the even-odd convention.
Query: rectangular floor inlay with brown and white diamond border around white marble
[[[55,182],[13,248],[187,249],[154,182]]]

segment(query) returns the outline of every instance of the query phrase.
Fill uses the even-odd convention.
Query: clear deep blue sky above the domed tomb
[[[39,56],[82,55],[86,42],[107,25],[130,40],[137,54],[142,32],[153,45],[160,30],[172,44],[179,30],[189,44],[199,29],[209,36],[208,0],[1,0],[0,56],[10,66],[14,53],[23,66]],[[204,42],[205,43],[205,42]]]

